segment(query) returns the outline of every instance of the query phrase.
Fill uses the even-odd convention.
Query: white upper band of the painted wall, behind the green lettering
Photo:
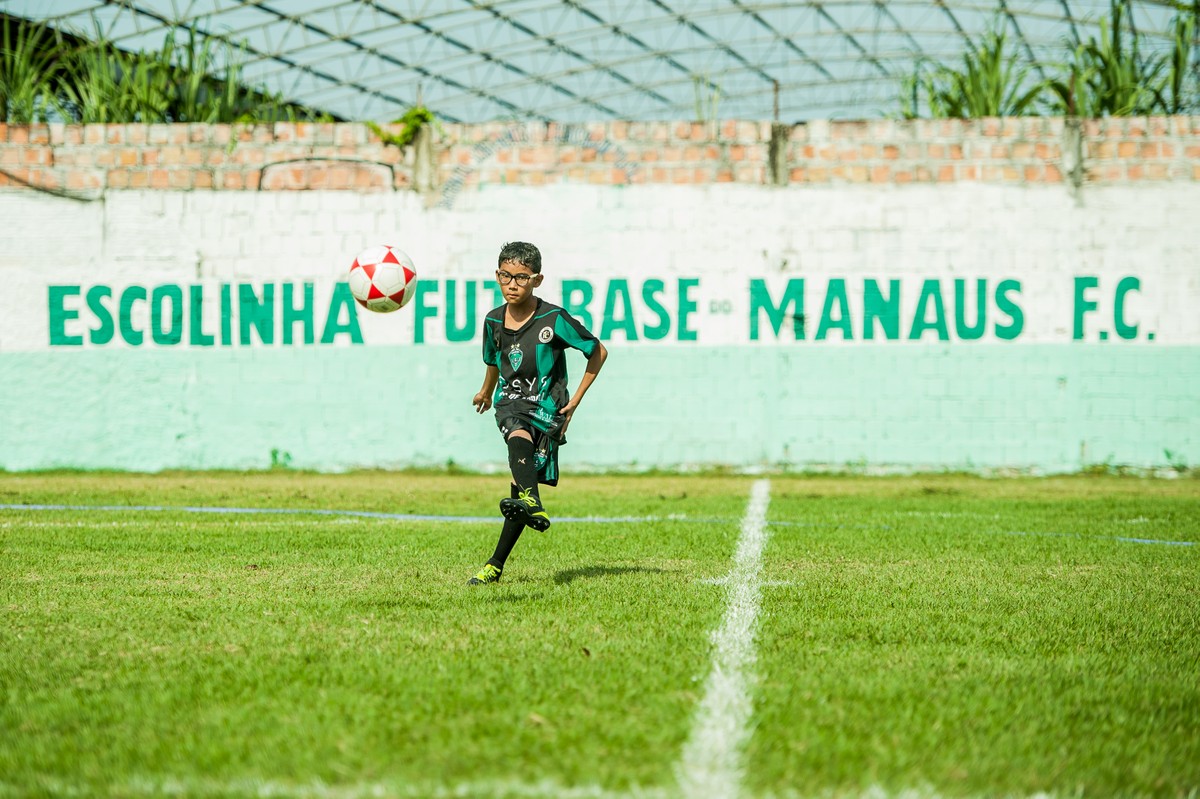
[[[328,298],[354,254],[376,242],[404,248],[420,277],[440,284],[421,299],[437,316],[418,313],[415,306],[390,316],[360,313],[365,343],[414,342],[418,316],[430,319],[424,342],[439,343],[445,337],[445,281],[456,281],[460,295],[463,281],[488,281],[496,253],[510,240],[541,248],[547,299],[562,299],[563,280],[589,281],[598,328],[611,280],[628,281],[638,329],[658,319],[642,298],[643,282],[664,281],[655,299],[676,329],[659,343],[679,341],[679,278],[698,281],[685,298],[696,304],[688,318],[696,343],[716,346],[749,343],[749,282],[755,278],[775,301],[788,280],[804,278],[810,338],[820,326],[828,281],[845,280],[846,304],[835,304],[827,316],[836,322],[848,311],[856,340],[862,337],[865,280],[883,288],[889,280],[901,281],[902,338],[917,318],[925,281],[942,281],[950,323],[955,278],[970,281],[968,299],[978,278],[989,281],[989,292],[1001,281],[1019,281],[1010,300],[1021,308],[1024,325],[1014,341],[1048,343],[1073,340],[1080,301],[1097,304],[1084,317],[1085,340],[1098,341],[1102,331],[1115,338],[1115,292],[1127,277],[1138,286],[1126,287],[1122,320],[1138,325],[1136,341],[1150,343],[1153,334],[1160,346],[1200,343],[1200,185],[1190,184],[1097,188],[1081,205],[1058,188],[968,184],[883,190],[496,187],[462,196],[454,210],[426,210],[412,193],[109,192],[103,202],[83,204],[7,192],[0,193],[0,217],[6,220],[0,232],[0,352],[49,347],[49,284],[103,283],[119,294],[127,284],[198,283],[211,314],[221,282],[312,281],[318,298]],[[1094,277],[1097,286],[1079,288],[1078,277]],[[1076,292],[1082,294],[1076,298]],[[614,302],[622,300],[618,293]],[[491,301],[490,294],[480,294],[480,305]],[[80,317],[66,330],[83,334],[89,316],[82,296],[74,302]],[[318,306],[326,304],[318,300]],[[623,305],[613,310],[624,317]],[[929,298],[923,310],[926,322],[934,320]],[[968,322],[973,318],[972,306]],[[613,325],[612,340],[625,340],[626,330]],[[766,317],[760,342],[776,338],[763,330],[770,330]],[[844,330],[830,325],[824,343],[841,342]],[[780,337],[791,340],[790,325]],[[936,338],[931,329],[922,340]],[[989,326],[983,341],[994,340]],[[638,343],[644,343],[640,330]]]

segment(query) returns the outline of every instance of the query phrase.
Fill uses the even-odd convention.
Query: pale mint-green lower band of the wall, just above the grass
[[[1200,347],[622,347],[563,468],[1200,463]],[[571,356],[574,386],[583,359]],[[503,468],[474,346],[0,354],[0,468]],[[1168,455],[1170,452],[1170,455]]]

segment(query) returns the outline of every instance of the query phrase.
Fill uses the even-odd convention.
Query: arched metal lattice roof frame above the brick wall
[[[894,113],[918,62],[956,60],[996,25],[1044,74],[1068,38],[1094,35],[1108,0],[0,0],[0,12],[128,49],[194,31],[244,48],[257,85],[341,119],[388,121],[419,102],[446,121],[692,119],[707,97],[725,118],[797,121]],[[1166,46],[1174,12],[1134,4],[1150,49]]]

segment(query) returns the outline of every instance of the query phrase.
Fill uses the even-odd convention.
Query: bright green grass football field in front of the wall
[[[1200,480],[504,489],[0,474],[0,795],[1200,795]]]

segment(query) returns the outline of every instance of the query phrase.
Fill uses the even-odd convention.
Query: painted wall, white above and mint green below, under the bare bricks
[[[496,467],[498,438],[469,413],[478,335],[448,343],[446,306],[452,281],[466,324],[474,292],[478,328],[511,240],[541,248],[546,299],[586,284],[593,300],[578,310],[613,354],[572,427],[586,441],[566,450],[576,463],[1195,464],[1195,218],[1200,184],[1182,182],[1096,187],[1082,204],[1062,187],[976,184],[488,186],[452,209],[413,193],[112,191],[78,203],[5,191],[0,468],[245,468],[276,450],[317,469]],[[361,343],[347,314],[330,344],[282,344],[282,287],[314,284],[319,341],[335,283],[378,242],[409,252],[422,294],[392,314],[356,311]],[[965,341],[955,281],[967,281],[971,326],[980,278],[988,324]],[[893,280],[896,335],[880,323],[864,341],[865,293]],[[797,342],[797,308],[781,304],[800,281]],[[242,342],[236,302],[222,341],[221,294],[242,283],[277,292],[269,346],[257,331]],[[142,344],[96,332],[96,287],[113,328],[133,299],[125,322]],[[154,341],[160,290],[166,317],[172,293],[186,305],[178,343]],[[774,323],[751,313],[755,296]],[[192,343],[193,329],[209,343]],[[360,423],[365,404],[378,408]],[[352,435],[367,427],[374,437]]]

